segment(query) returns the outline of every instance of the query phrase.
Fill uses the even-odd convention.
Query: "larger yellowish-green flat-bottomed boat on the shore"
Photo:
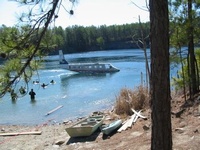
[[[70,137],[90,136],[103,124],[104,118],[105,116],[103,115],[90,116],[80,120],[65,130]]]

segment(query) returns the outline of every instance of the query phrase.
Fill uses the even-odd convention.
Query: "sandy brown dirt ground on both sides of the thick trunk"
[[[172,133],[174,150],[199,150],[200,100],[185,104],[182,97],[172,100]],[[180,106],[185,106],[183,107]],[[184,111],[181,111],[184,110]],[[179,113],[178,113],[179,112]],[[0,150],[148,150],[151,144],[150,110],[142,112],[132,128],[105,136],[96,131],[90,137],[70,138],[65,128],[70,124],[41,126],[3,126],[0,133],[42,131],[41,135],[0,136]],[[107,122],[116,115],[107,112]]]

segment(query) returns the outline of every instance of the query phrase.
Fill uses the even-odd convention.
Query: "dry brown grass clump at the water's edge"
[[[146,109],[149,106],[149,94],[145,87],[139,86],[134,90],[123,88],[116,97],[115,113],[122,116],[132,115],[135,110]]]

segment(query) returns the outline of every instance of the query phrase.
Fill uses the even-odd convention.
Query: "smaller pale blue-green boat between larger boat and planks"
[[[103,132],[103,134],[105,135],[109,135],[110,133],[112,133],[113,131],[117,130],[120,126],[122,125],[122,120],[115,120],[112,123],[108,124],[108,125],[103,125],[101,132]]]

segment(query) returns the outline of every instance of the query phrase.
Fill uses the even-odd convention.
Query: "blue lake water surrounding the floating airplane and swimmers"
[[[149,55],[149,51],[148,51]],[[120,72],[106,74],[78,74],[59,67],[58,55],[48,56],[42,68],[33,76],[28,91],[34,89],[36,101],[30,96],[19,97],[15,103],[9,95],[0,99],[0,124],[36,125],[53,120],[63,122],[84,117],[94,111],[111,109],[122,88],[134,89],[145,79],[145,60],[142,50],[123,49],[67,54],[69,63],[111,63]],[[42,88],[41,84],[48,84]],[[55,84],[49,84],[54,80]],[[20,83],[18,86],[24,86]],[[49,111],[63,107],[50,115]]]

